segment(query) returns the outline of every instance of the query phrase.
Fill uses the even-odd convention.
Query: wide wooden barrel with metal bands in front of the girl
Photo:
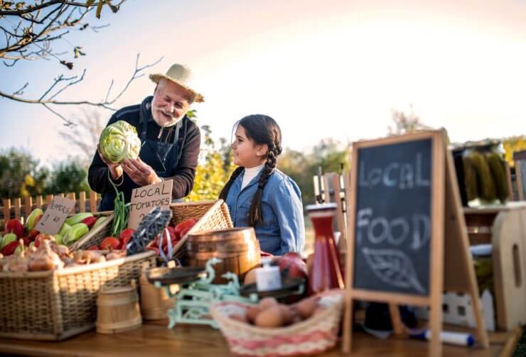
[[[188,234],[188,265],[204,267],[208,259],[220,258],[214,265],[215,284],[227,282],[223,273],[235,273],[240,283],[252,268],[261,265],[259,241],[252,227],[197,231]]]

